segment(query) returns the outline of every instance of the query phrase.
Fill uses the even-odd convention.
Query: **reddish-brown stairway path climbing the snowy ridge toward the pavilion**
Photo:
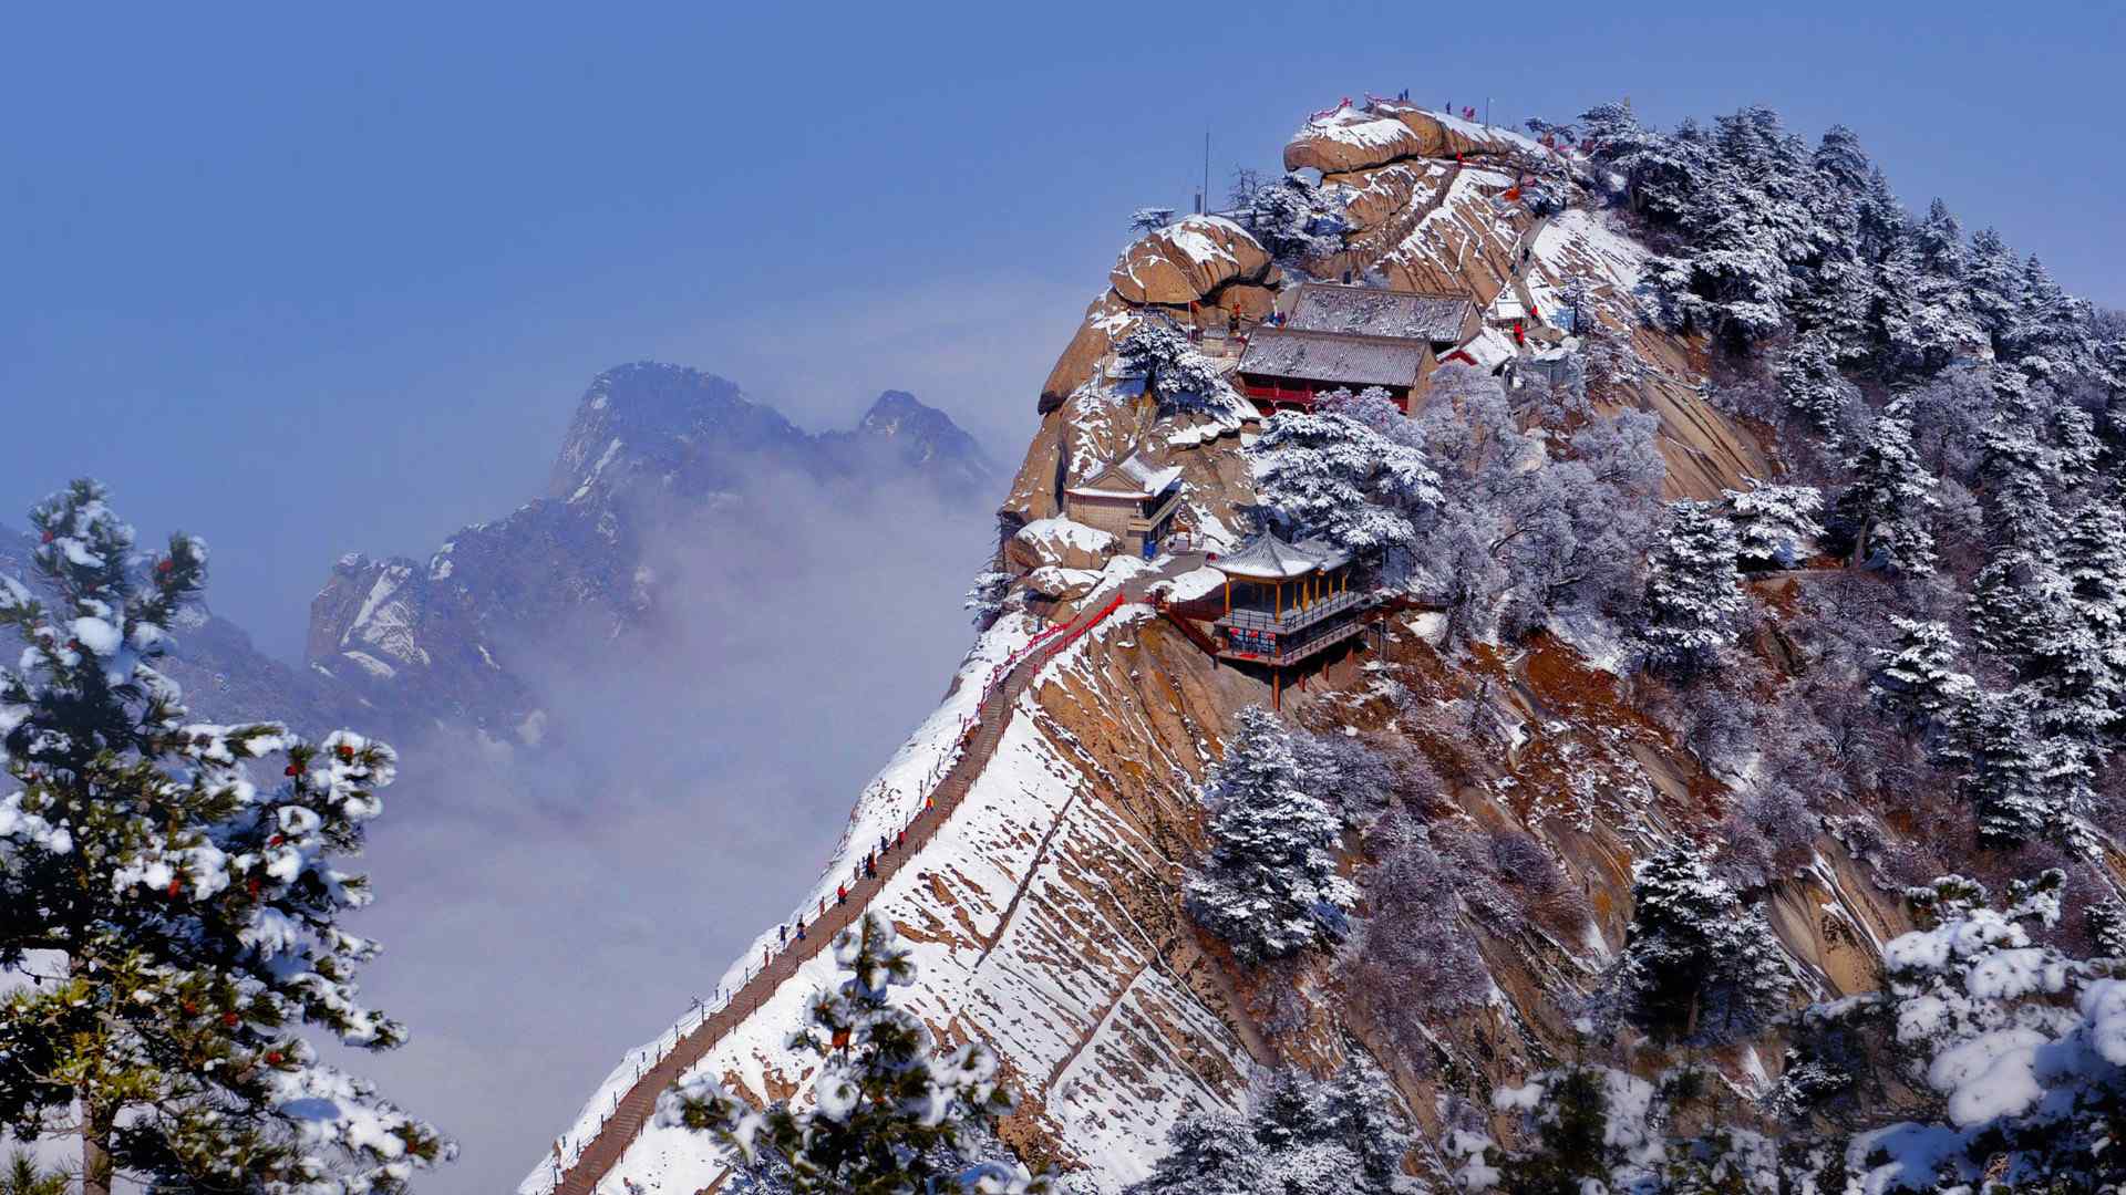
[[[1167,557],[1167,561],[1137,576],[1131,576],[1118,587],[1112,598],[1095,602],[1097,593],[1086,598],[1086,608],[1069,621],[1067,629],[1054,636],[1054,646],[1074,642],[1084,632],[1093,629],[1101,619],[1116,610],[1114,600],[1123,604],[1144,602],[1150,598],[1154,585],[1174,580],[1184,572],[1193,572],[1203,566],[1201,553],[1186,553]],[[636,1140],[644,1125],[657,1114],[657,1097],[672,1087],[687,1070],[702,1061],[708,1050],[716,1046],[731,1029],[738,1029],[761,1004],[784,980],[797,974],[797,967],[808,959],[825,950],[833,936],[846,929],[863,914],[865,906],[876,897],[895,874],[901,872],[921,851],[923,844],[938,834],[938,827],[952,817],[959,802],[965,800],[967,791],[974,789],[974,780],[989,765],[991,755],[997,751],[997,740],[1003,736],[1003,725],[1012,714],[1012,706],[1018,695],[1025,693],[1033,680],[1040,676],[1042,668],[1054,651],[1035,651],[1027,655],[1018,666],[1012,668],[1003,680],[989,691],[982,700],[978,725],[967,738],[967,748],[961,751],[959,763],[938,782],[931,793],[935,808],[916,814],[914,823],[908,827],[908,846],[893,851],[878,861],[878,876],[861,880],[850,887],[848,904],[838,904],[827,910],[825,916],[806,927],[806,940],[793,942],[791,948],[782,950],[765,970],[753,976],[744,987],[740,987],[731,999],[716,1010],[712,1016],[702,1021],[691,1033],[678,1040],[657,1065],[642,1072],[642,1078],[619,1097],[612,1116],[606,1118],[597,1135],[583,1148],[576,1163],[561,1174],[561,1182],[555,1186],[555,1195],[593,1195],[600,1180],[612,1172],[612,1167],[627,1152],[627,1146]],[[1029,872],[1031,876],[1031,872]],[[1016,904],[1016,895],[1012,904]],[[1001,933],[1001,929],[999,929]]]

